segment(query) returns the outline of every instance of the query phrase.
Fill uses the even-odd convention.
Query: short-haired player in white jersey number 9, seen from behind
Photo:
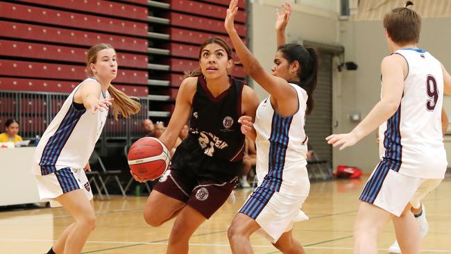
[[[421,18],[408,8],[411,5],[407,1],[384,17],[391,55],[382,60],[381,101],[350,133],[326,138],[344,149],[380,126],[382,161],[359,197],[354,253],[377,253],[377,235],[390,219],[400,251],[419,253],[411,203],[437,187],[447,167],[441,110],[443,94],[451,94],[451,77],[434,56],[416,45]]]

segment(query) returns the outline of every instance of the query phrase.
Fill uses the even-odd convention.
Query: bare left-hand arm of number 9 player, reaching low
[[[339,146],[340,150],[353,146],[360,139],[379,127],[398,110],[402,92],[404,91],[404,78],[407,75],[407,62],[398,55],[393,54],[382,60],[382,100],[357,127],[350,133],[334,134],[326,137],[327,143]]]

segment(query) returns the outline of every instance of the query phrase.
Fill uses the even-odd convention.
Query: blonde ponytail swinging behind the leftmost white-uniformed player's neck
[[[141,104],[136,101],[138,100],[136,97],[129,97],[112,85],[108,87],[108,92],[114,99],[112,101],[112,115],[114,119],[117,120],[119,113],[125,118],[130,118],[130,115],[136,114],[141,109]]]

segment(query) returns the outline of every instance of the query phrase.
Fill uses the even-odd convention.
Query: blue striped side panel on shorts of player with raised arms
[[[243,205],[241,210],[242,214],[246,214],[248,217],[252,219],[256,219],[260,212],[262,212],[263,208],[271,199],[271,196],[274,194],[274,190],[257,187],[254,192],[248,198],[248,201]]]

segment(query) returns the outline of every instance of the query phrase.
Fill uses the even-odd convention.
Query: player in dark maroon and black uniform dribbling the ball
[[[228,76],[233,64],[227,42],[220,38],[203,42],[200,67],[185,75],[176,108],[160,137],[171,150],[190,117],[188,137],[177,147],[171,168],[144,207],[144,219],[154,227],[177,217],[167,253],[188,253],[189,238],[223,205],[241,173],[244,135],[238,119],[242,115],[255,119],[259,101],[250,87]]]

